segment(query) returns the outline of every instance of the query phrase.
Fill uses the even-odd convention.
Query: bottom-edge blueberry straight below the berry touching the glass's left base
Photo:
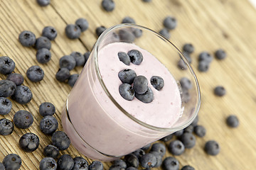
[[[69,154],[63,154],[57,162],[57,168],[60,170],[71,170],[74,166],[74,160]]]

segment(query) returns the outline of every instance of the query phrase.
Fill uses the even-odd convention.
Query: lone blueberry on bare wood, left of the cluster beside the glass
[[[32,82],[39,82],[43,79],[44,72],[43,69],[41,69],[41,67],[35,65],[28,68],[26,76]]]

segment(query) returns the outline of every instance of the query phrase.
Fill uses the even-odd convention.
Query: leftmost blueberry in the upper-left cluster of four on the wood
[[[18,35],[18,41],[25,47],[31,47],[36,43],[36,35],[29,30],[23,30]]]

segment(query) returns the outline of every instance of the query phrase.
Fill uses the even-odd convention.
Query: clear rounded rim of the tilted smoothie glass
[[[122,106],[119,105],[119,103],[117,103],[116,100],[114,100],[114,98],[112,97],[112,95],[110,94],[110,91],[107,90],[107,87],[105,86],[105,83],[102,79],[102,76],[100,74],[100,69],[99,69],[99,65],[98,65],[98,54],[99,54],[99,47],[100,44],[102,42],[102,40],[104,40],[107,36],[108,33],[110,33],[110,31],[117,29],[117,28],[140,28],[140,29],[144,29],[144,30],[149,30],[151,33],[154,33],[155,35],[157,35],[159,38],[165,40],[166,42],[168,42],[170,45],[172,45],[178,52],[178,54],[180,55],[180,57],[182,58],[183,62],[185,62],[186,66],[188,67],[189,71],[191,72],[191,74],[193,75],[193,79],[196,82],[196,94],[198,95],[198,99],[196,102],[196,108],[193,111],[193,116],[183,125],[179,125],[177,127],[172,127],[172,128],[161,128],[161,127],[157,127],[154,125],[149,125],[147,123],[142,122],[142,120],[139,120],[137,118],[134,118],[131,114],[129,114],[127,111],[124,110],[124,108],[122,108]],[[132,120],[134,120],[136,123],[139,123],[139,125],[144,126],[145,128],[149,128],[151,130],[157,130],[157,131],[164,131],[164,132],[172,132],[172,131],[176,131],[176,130],[181,130],[183,128],[186,128],[188,125],[190,125],[193,120],[196,118],[196,115],[198,114],[199,108],[200,108],[200,104],[201,104],[201,94],[200,94],[200,87],[198,84],[198,79],[196,78],[196,74],[193,71],[191,65],[187,62],[186,58],[183,56],[182,52],[178,49],[178,47],[176,47],[176,45],[174,45],[173,42],[171,42],[170,40],[164,38],[164,36],[160,35],[159,33],[156,33],[154,30],[151,30],[150,28],[146,28],[144,26],[139,26],[136,24],[131,24],[131,23],[122,23],[122,24],[118,24],[116,26],[112,26],[110,28],[107,28],[101,35],[100,37],[97,39],[97,41],[95,42],[95,71],[97,73],[97,78],[100,81],[100,84],[102,86],[102,89],[104,89],[105,94],[107,94],[107,96],[110,98],[110,100],[114,103],[115,106],[117,106],[117,108],[119,108],[119,110],[124,113],[124,115],[127,115],[127,117],[131,118]]]

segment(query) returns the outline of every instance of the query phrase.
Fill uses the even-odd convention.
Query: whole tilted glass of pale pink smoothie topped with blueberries
[[[62,125],[82,154],[112,161],[186,128],[199,107],[196,75],[177,47],[149,28],[121,24],[95,43]]]

